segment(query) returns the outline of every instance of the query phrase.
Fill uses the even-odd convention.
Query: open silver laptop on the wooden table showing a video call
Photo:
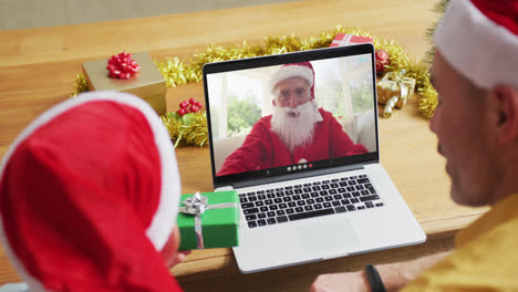
[[[272,129],[272,76],[307,62],[312,83],[300,79],[322,118],[313,140],[289,150],[280,145],[290,139],[277,135],[284,132]],[[242,273],[426,240],[380,164],[372,44],[208,63],[203,75],[214,187],[239,194],[234,253]]]

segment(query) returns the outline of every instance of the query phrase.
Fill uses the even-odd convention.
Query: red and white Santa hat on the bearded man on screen
[[[310,62],[300,62],[282,65],[270,80],[270,92],[274,94],[279,82],[299,77],[305,80],[310,85],[311,98],[314,100],[314,70]]]

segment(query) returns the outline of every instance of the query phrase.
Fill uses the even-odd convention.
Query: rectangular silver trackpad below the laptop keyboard
[[[305,250],[355,250],[360,244],[348,220],[308,222],[299,227],[299,237]]]

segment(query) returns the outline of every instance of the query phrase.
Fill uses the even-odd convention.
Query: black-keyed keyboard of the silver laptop
[[[383,207],[366,175],[239,194],[249,228]]]

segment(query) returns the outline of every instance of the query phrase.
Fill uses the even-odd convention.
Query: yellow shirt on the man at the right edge
[[[518,219],[512,218],[479,233],[426,270],[404,291],[476,291],[480,286],[507,291],[512,280],[501,280],[515,279],[518,269],[518,253],[514,252],[517,228]]]

